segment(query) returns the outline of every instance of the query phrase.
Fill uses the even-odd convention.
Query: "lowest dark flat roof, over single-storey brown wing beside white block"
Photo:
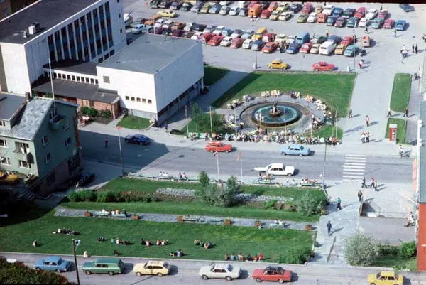
[[[55,95],[58,96],[92,100],[108,104],[114,103],[120,98],[119,95],[116,94],[98,91],[97,85],[94,84],[62,79],[54,79],[52,82],[53,91],[55,91]],[[52,93],[50,81],[45,82],[42,85],[38,85],[37,87],[33,87],[33,91]]]

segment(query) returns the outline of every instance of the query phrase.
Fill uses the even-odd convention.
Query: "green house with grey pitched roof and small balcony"
[[[77,106],[0,93],[0,171],[36,178],[28,187],[48,195],[80,173]]]

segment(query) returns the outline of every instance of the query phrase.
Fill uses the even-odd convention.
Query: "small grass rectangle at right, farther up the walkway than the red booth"
[[[404,112],[408,107],[410,98],[411,75],[410,73],[396,73],[393,77],[393,87],[391,96],[391,110]]]

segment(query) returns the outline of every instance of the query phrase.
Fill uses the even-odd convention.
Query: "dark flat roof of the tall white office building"
[[[40,0],[0,21],[0,43],[26,43],[99,0]],[[23,31],[40,23],[40,31],[23,37]]]

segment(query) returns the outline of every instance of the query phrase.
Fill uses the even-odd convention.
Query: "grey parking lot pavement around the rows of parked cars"
[[[124,3],[124,12],[130,13],[133,16],[133,19],[142,17],[149,18],[156,14],[161,9],[150,9],[146,7],[145,1],[140,0],[126,0]],[[317,4],[323,3],[313,3],[314,6]],[[236,5],[236,4],[231,4]],[[342,3],[337,4],[336,6],[342,7],[344,9],[359,8],[360,6],[366,6],[367,9],[380,9],[379,4],[350,4]],[[402,11],[397,4],[384,4],[383,9],[388,10],[390,17],[393,20],[404,19],[407,21],[405,31],[398,31],[397,37],[393,36],[393,29],[374,29],[369,28],[368,36],[371,37],[372,46],[371,48],[366,48],[366,56],[364,60],[366,61],[366,69],[371,70],[373,68],[381,68],[395,63],[395,61],[400,61],[400,49],[405,45],[409,50],[413,43],[419,45],[419,50],[422,51],[424,44],[422,43],[422,26],[420,24],[419,18],[422,10],[416,6],[416,10],[410,13],[405,13]],[[222,25],[226,28],[241,30],[253,29],[257,30],[258,28],[268,28],[269,32],[285,35],[299,35],[302,32],[308,31],[312,37],[315,33],[317,35],[324,35],[326,30],[329,31],[329,35],[341,36],[352,36],[355,33],[356,38],[358,38],[357,45],[360,45],[360,38],[364,36],[364,28],[337,28],[334,26],[326,26],[324,23],[297,23],[297,16],[295,14],[290,20],[283,21],[271,21],[269,19],[259,18],[257,22],[252,22],[251,18],[241,17],[241,16],[222,16],[219,14],[195,14],[192,12],[183,12],[176,11],[178,16],[173,18],[173,21],[181,22],[190,22],[195,21],[196,23],[204,23],[207,25]],[[131,38],[136,38],[137,35],[131,34],[131,30],[127,31],[128,36]],[[204,60],[212,65],[221,66],[224,68],[229,68],[231,70],[237,71],[249,71],[253,68],[253,63],[257,60],[257,65],[259,69],[267,68],[268,63],[270,63],[275,58],[280,58],[285,63],[290,64],[292,70],[312,70],[312,63],[317,63],[317,61],[325,60],[328,63],[336,65],[337,70],[346,71],[348,67],[351,69],[355,67],[356,63],[359,60],[359,56],[354,58],[348,58],[344,55],[315,55],[315,54],[302,54],[297,53],[295,55],[290,55],[287,53],[279,53],[275,51],[272,54],[265,54],[261,52],[255,52],[253,50],[246,50],[244,48],[226,48],[222,46],[204,46]],[[420,62],[420,56],[418,57]],[[413,60],[413,57],[408,57],[405,59],[406,62]],[[356,69],[358,69],[356,67]],[[403,70],[401,70],[403,72]],[[415,72],[415,70],[408,71],[410,73]]]

